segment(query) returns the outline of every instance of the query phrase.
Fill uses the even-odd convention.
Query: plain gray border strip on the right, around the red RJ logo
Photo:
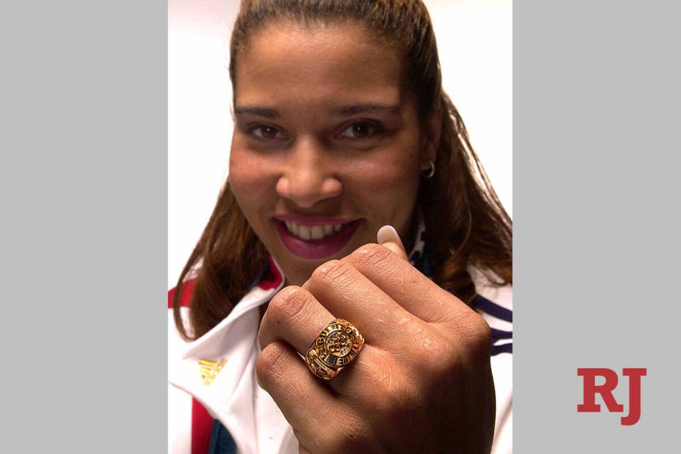
[[[514,4],[518,453],[678,450],[679,9]],[[639,423],[627,380],[577,413],[578,367],[648,368]]]

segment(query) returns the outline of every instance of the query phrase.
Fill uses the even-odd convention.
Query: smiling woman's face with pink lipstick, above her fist
[[[397,51],[357,24],[276,22],[236,65],[231,190],[290,284],[393,225],[409,238],[427,167]]]

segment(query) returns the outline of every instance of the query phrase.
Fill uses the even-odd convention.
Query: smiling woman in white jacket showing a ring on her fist
[[[172,452],[510,451],[489,325],[510,327],[511,221],[425,6],[244,0],[230,76],[229,181],[169,298]],[[354,361],[324,376],[336,318]]]

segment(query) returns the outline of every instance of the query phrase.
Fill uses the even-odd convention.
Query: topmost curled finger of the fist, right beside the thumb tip
[[[364,245],[343,261],[366,276],[398,305],[429,323],[456,322],[473,311],[422,275],[408,261],[376,244]],[[331,309],[333,310],[333,309]]]

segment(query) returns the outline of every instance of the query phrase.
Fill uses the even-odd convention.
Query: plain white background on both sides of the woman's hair
[[[502,203],[512,213],[512,2],[425,0],[444,86]],[[227,178],[229,33],[237,0],[170,0],[168,23],[168,286],[198,240]]]

